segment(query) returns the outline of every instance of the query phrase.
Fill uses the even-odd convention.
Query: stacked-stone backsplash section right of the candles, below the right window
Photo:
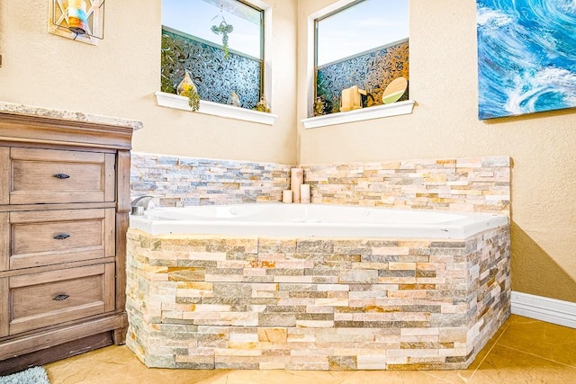
[[[312,202],[509,215],[508,156],[300,166]]]

